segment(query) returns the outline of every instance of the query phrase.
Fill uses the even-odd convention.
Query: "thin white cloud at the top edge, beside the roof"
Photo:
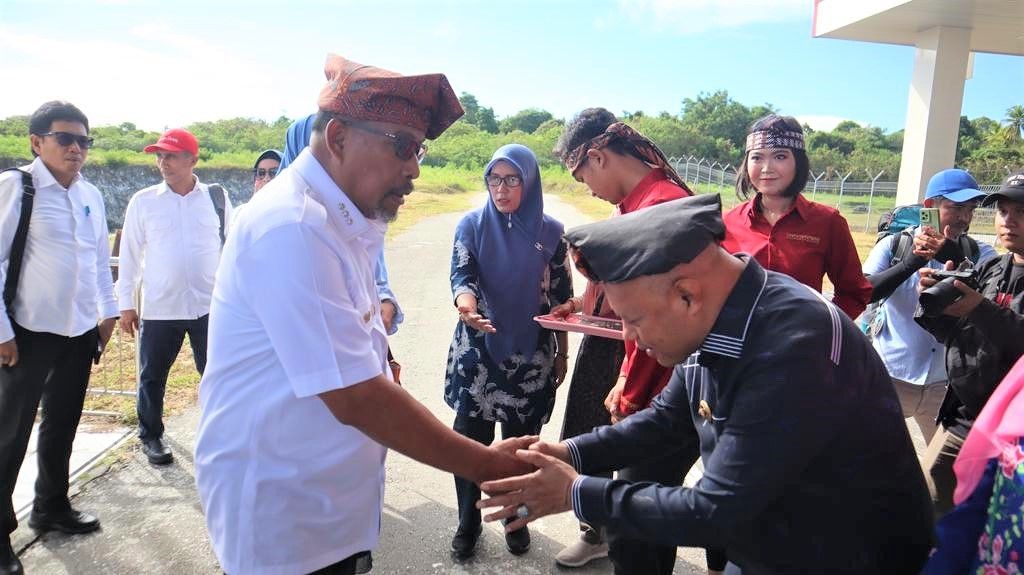
[[[679,34],[809,19],[813,10],[808,0],[618,0],[618,8],[635,23]]]

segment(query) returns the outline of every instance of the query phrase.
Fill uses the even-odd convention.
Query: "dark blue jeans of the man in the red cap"
[[[193,348],[196,370],[206,369],[206,330],[210,315],[198,319],[143,319],[138,327],[138,437],[164,436],[164,391],[167,374],[181,351],[185,334]]]

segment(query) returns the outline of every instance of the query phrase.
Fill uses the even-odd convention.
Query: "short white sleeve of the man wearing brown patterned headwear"
[[[267,261],[275,262],[272,270]],[[238,281],[249,286],[252,308],[298,397],[383,373],[350,294],[361,283],[346,277],[346,269],[325,240],[298,224],[267,232],[239,259]]]

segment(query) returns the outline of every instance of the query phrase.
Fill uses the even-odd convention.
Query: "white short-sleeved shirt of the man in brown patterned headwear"
[[[196,442],[196,484],[227,573],[309,573],[377,545],[386,449],[317,394],[390,378],[379,235],[308,149],[234,221]]]

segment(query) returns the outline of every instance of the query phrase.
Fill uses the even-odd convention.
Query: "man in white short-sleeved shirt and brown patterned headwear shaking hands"
[[[480,481],[524,468],[391,381],[373,262],[424,138],[462,116],[444,76],[330,55],[309,147],[239,214],[210,310],[196,482],[230,574],[350,574],[377,544],[388,447]],[[528,469],[528,468],[526,468]]]

